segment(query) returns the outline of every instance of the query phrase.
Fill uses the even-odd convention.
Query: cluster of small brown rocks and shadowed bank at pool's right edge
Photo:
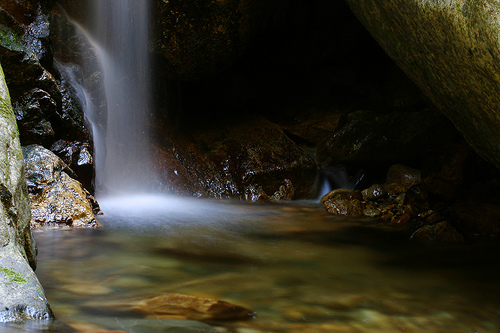
[[[472,157],[465,147],[447,145],[437,152],[447,158],[436,161],[429,153],[422,161],[422,172],[393,165],[385,183],[364,190],[336,189],[321,202],[331,214],[376,218],[403,227],[413,240],[496,239],[500,236],[500,223],[494,217],[500,202],[497,185],[491,179],[481,183],[477,175],[467,174]]]

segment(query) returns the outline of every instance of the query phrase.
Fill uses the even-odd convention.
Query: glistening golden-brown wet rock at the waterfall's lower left
[[[33,227],[97,227],[95,200],[59,157],[37,145],[23,147],[23,155]]]

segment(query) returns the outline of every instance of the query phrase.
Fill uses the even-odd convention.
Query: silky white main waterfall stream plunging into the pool
[[[105,161],[98,194],[150,192],[156,183],[149,147],[149,2],[93,0],[92,35],[100,50],[108,105]]]

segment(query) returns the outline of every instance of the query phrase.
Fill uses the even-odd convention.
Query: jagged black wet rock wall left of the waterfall
[[[0,61],[19,124],[22,145],[46,148],[58,140],[85,146],[93,154],[92,135],[77,93],[66,73],[54,67],[49,10],[52,1],[2,3]],[[84,154],[79,150],[76,155]],[[72,163],[82,182],[93,191],[93,159]]]

